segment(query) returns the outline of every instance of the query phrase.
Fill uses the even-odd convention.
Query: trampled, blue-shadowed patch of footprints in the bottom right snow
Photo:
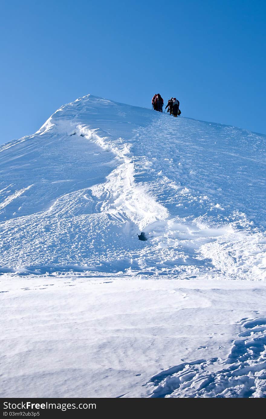
[[[242,319],[227,360],[183,362],[147,383],[151,398],[265,398],[266,318]],[[199,347],[198,349],[204,349]]]

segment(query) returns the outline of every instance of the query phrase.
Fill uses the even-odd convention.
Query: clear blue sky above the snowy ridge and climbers
[[[0,143],[91,93],[266,133],[262,0],[4,0]]]

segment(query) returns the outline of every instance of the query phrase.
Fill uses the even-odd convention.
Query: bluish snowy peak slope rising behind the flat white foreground
[[[265,149],[234,127],[77,99],[0,147],[0,270],[265,279]]]

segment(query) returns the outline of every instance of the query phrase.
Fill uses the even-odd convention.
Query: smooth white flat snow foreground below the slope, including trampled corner
[[[3,275],[1,396],[265,396],[265,286]]]

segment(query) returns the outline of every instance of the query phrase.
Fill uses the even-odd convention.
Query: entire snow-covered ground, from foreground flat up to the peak
[[[265,397],[265,152],[91,95],[1,146],[2,396]]]

